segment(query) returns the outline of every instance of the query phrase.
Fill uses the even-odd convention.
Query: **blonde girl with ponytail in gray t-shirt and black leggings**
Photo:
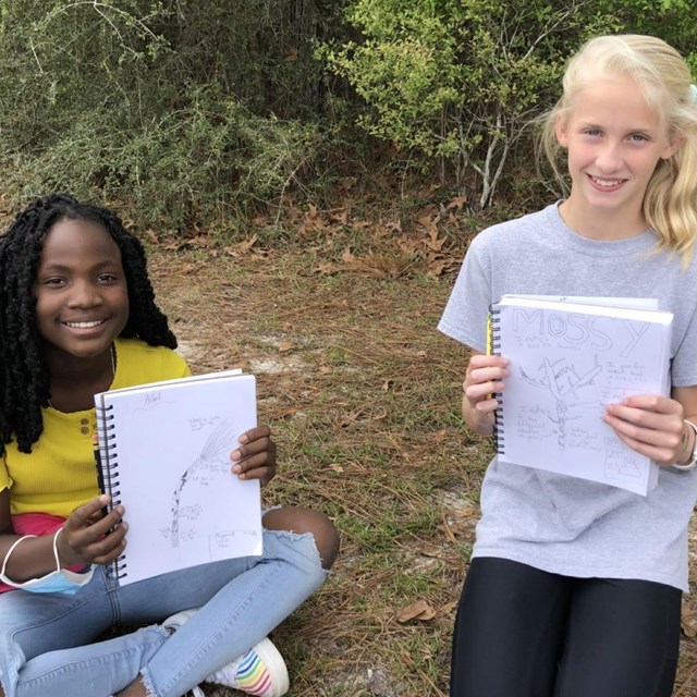
[[[463,416],[491,435],[505,357],[482,355],[505,293],[656,297],[674,314],[671,396],[608,404],[616,437],[661,465],[647,497],[490,463],[453,638],[453,697],[669,697],[687,523],[697,498],[697,107],[680,54],[606,36],[570,62],[545,121],[564,200],[479,234],[439,329],[473,350]]]

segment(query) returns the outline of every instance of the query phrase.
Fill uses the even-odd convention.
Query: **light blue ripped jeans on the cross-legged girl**
[[[108,697],[143,675],[151,697],[181,697],[239,658],[327,576],[311,535],[265,530],[264,554],[163,574],[123,588],[99,567],[74,596],[0,595],[5,697]],[[201,607],[171,636],[158,625],[93,644],[115,624]]]

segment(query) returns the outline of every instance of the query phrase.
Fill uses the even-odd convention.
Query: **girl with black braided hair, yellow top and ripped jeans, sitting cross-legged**
[[[0,236],[0,697],[180,697],[201,682],[288,690],[266,635],[337,555],[325,515],[267,511],[259,558],[123,588],[106,571],[129,526],[123,505],[101,514],[94,394],[189,375],[175,347],[143,246],[112,211],[50,195]],[[267,484],[269,428],[240,442],[231,476]],[[159,624],[98,640],[147,623]]]

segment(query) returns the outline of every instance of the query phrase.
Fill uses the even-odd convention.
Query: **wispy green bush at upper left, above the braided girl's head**
[[[180,230],[278,206],[320,143],[301,120],[314,20],[233,4],[0,3],[5,194],[72,191]]]

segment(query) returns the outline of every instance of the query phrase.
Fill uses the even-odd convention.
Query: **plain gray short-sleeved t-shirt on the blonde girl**
[[[660,309],[674,314],[672,383],[697,384],[697,255],[683,269],[681,257],[656,252],[650,231],[612,242],[582,237],[558,206],[475,237],[438,329],[484,353],[487,310],[505,293],[657,297]],[[696,500],[697,469],[661,467],[658,486],[641,497],[494,457],[473,557],[687,590],[687,523]]]

